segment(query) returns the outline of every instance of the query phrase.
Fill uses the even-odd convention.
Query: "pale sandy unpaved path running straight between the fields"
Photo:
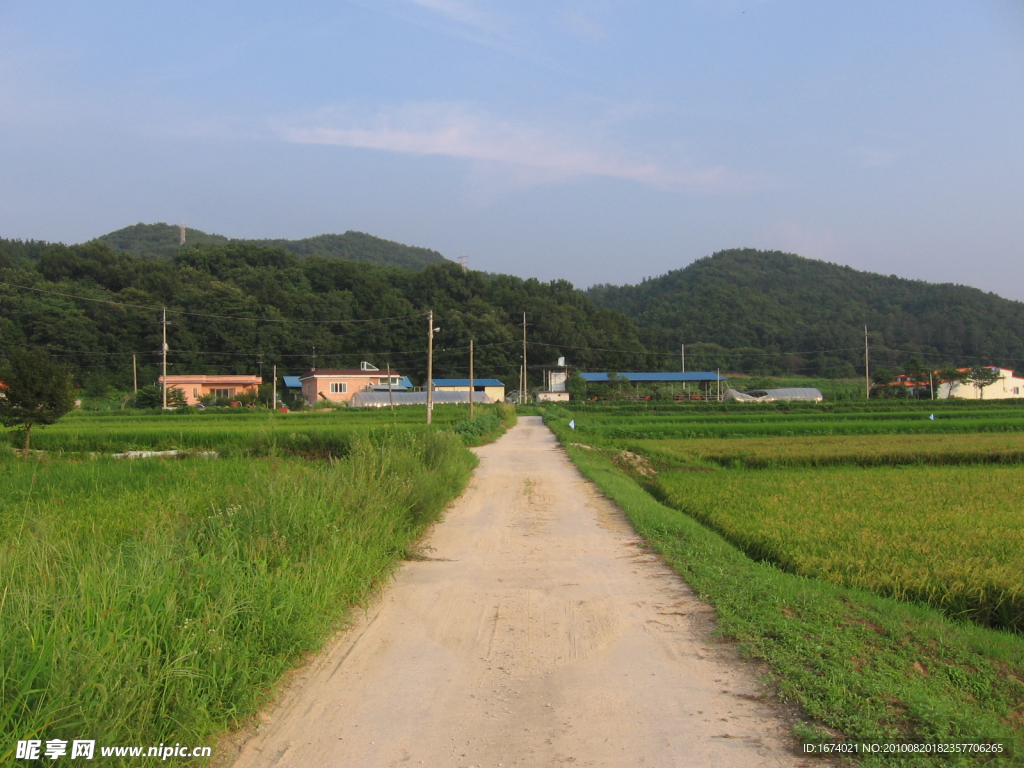
[[[752,669],[538,418],[377,605],[297,676],[236,768],[792,766]]]

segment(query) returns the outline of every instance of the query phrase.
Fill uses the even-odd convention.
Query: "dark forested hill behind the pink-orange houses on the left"
[[[163,306],[175,374],[268,376],[273,365],[281,374],[299,373],[315,350],[318,368],[390,362],[422,382],[428,309],[441,329],[437,377],[468,375],[473,339],[476,375],[514,387],[524,311],[531,365],[558,355],[597,369],[655,365],[630,319],[595,306],[571,284],[487,276],[452,262],[401,269],[246,243],[195,246],[155,260],[98,241],[0,240],[0,356],[12,346],[44,347],[80,383],[99,389],[131,386],[133,353],[140,385],[155,381]],[[630,351],[596,351],[607,349]]]

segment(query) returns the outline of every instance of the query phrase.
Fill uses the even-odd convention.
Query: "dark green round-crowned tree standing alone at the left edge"
[[[42,350],[14,348],[0,361],[0,423],[25,428],[25,457],[32,428],[53,424],[75,408],[71,373]]]

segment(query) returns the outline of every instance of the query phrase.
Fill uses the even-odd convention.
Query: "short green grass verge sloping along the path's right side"
[[[779,694],[808,715],[798,725],[799,737],[1002,740],[1008,753],[985,764],[1024,762],[1024,640],[1019,635],[756,562],[693,518],[659,504],[602,452],[567,450],[637,531],[715,607],[722,633],[770,666]],[[984,761],[880,756],[862,762]]]

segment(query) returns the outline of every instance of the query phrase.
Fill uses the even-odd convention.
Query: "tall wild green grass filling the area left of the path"
[[[325,462],[0,464],[0,763],[11,739],[203,743],[237,723],[473,462],[449,432],[378,432]]]

